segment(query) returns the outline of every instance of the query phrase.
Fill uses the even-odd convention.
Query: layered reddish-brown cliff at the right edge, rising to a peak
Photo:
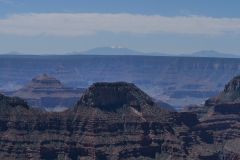
[[[209,144],[205,149],[195,145],[203,158],[240,159],[240,77],[234,77],[217,96],[209,98],[204,106],[189,110],[198,114],[197,130],[205,130]]]

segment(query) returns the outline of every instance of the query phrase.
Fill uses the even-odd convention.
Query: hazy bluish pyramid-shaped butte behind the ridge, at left
[[[23,98],[32,107],[62,111],[75,105],[83,91],[84,89],[65,87],[56,78],[42,74],[20,90],[6,94]]]

